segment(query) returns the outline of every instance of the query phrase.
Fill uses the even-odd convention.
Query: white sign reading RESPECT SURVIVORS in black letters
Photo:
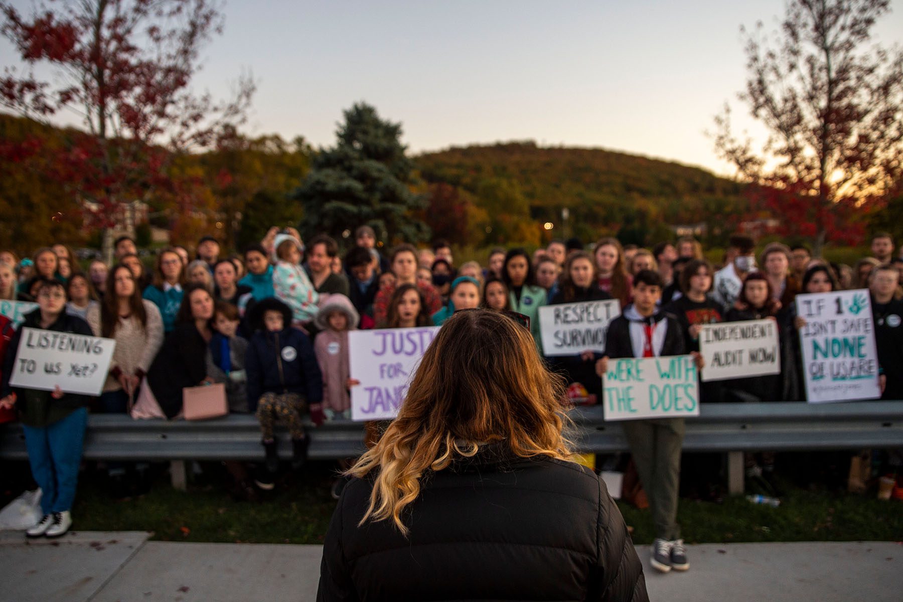
[[[545,305],[539,308],[539,329],[545,357],[576,356],[605,351],[609,323],[620,315],[617,299]]]

